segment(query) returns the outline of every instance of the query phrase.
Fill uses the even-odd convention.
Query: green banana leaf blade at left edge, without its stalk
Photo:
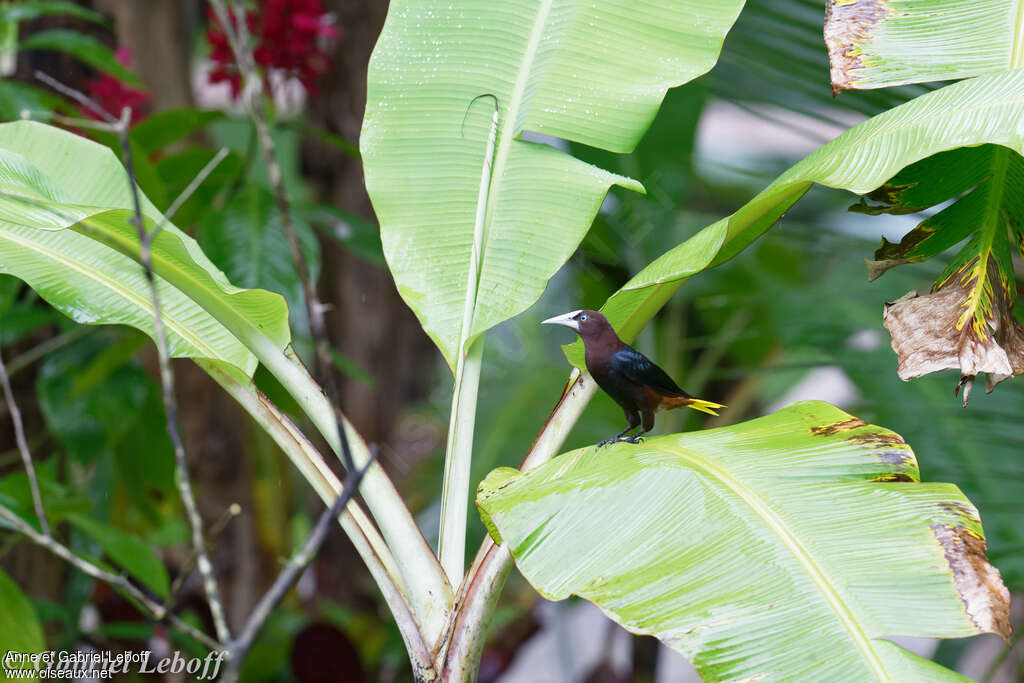
[[[141,199],[152,229],[161,214]],[[0,272],[26,281],[79,323],[130,325],[152,336],[144,274],[125,255],[138,244],[131,207],[124,168],[109,148],[40,123],[0,125]],[[172,355],[225,361],[252,375],[255,356],[209,312],[218,308],[279,348],[288,344],[284,299],[231,286],[174,225],[154,242],[153,258],[158,270],[202,292],[197,301],[158,278]]]

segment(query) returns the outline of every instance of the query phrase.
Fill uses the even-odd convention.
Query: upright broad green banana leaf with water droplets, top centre
[[[398,291],[453,369],[537,300],[611,184],[642,189],[523,131],[630,152],[666,90],[715,63],[742,4],[391,3],[359,145]]]

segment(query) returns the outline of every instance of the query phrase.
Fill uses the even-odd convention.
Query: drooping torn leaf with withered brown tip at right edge
[[[987,375],[987,389],[1024,372],[1024,327],[1011,312],[1016,299],[1012,250],[1024,224],[1024,160],[998,145],[966,147],[908,166],[853,210],[906,213],[953,200],[899,244],[883,240],[867,261],[868,278],[923,261],[964,243],[932,293],[886,304],[885,326],[903,380],[940,370],[961,372],[964,403],[970,381]],[[966,242],[965,242],[966,240]]]

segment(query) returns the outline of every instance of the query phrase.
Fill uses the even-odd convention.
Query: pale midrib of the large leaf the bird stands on
[[[782,521],[777,514],[775,514],[774,510],[772,510],[771,507],[769,507],[769,505],[752,488],[731,476],[727,470],[715,465],[715,463],[699,458],[674,444],[660,443],[659,447],[666,452],[677,455],[679,458],[689,463],[694,469],[700,470],[720,481],[736,496],[738,496],[739,499],[761,518],[765,525],[775,533],[776,538],[779,539],[782,545],[785,546],[786,550],[788,550],[794,558],[800,563],[804,571],[817,587],[822,597],[824,597],[825,601],[836,612],[839,621],[846,628],[847,633],[850,634],[850,637],[857,645],[857,648],[860,650],[871,672],[874,674],[874,677],[880,681],[891,681],[892,679],[886,671],[885,665],[882,663],[882,658],[879,656],[874,647],[871,646],[870,637],[864,633],[863,629],[860,628],[856,617],[843,601],[839,591],[837,591],[828,581],[825,572],[814,561],[810,552],[804,548],[797,536],[790,529],[786,523]]]

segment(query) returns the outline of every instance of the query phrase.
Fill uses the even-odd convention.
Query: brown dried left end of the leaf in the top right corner
[[[887,0],[828,0],[824,34],[833,95],[858,87],[860,71],[864,68],[861,49],[870,40],[874,27],[887,16]]]

